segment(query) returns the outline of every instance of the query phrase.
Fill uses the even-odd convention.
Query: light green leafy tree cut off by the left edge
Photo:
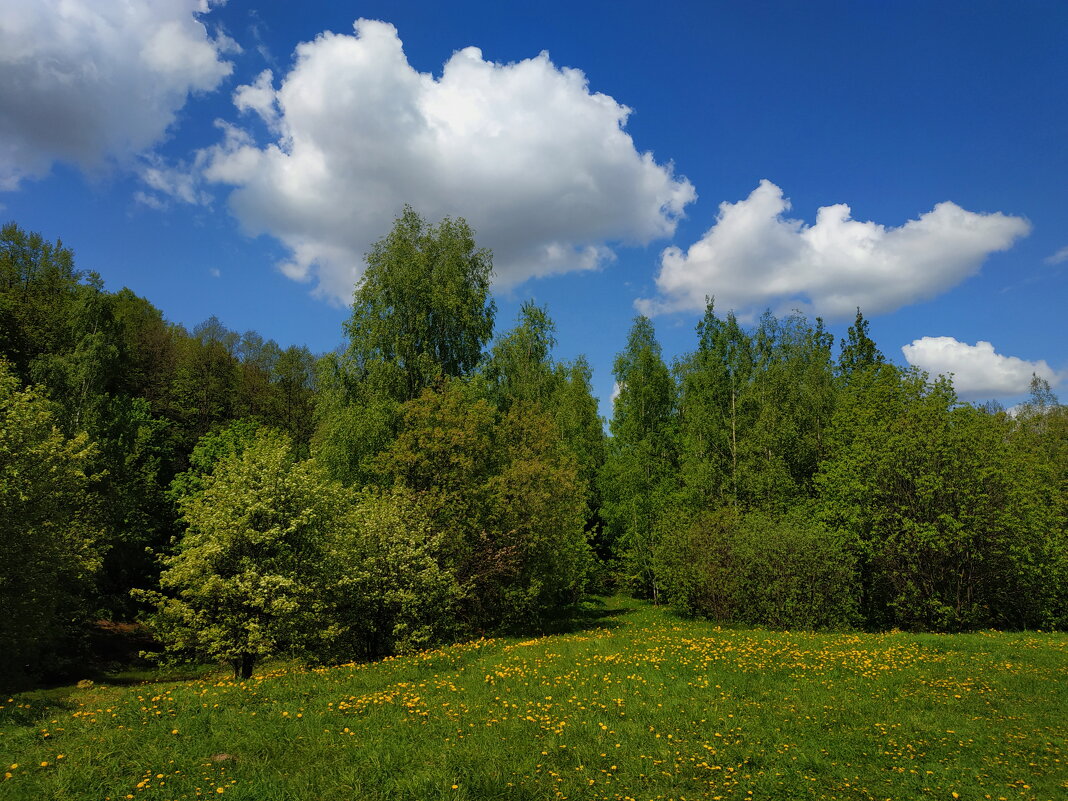
[[[48,402],[0,360],[0,686],[53,669],[64,626],[87,610],[98,566],[85,515],[84,435],[66,438]]]

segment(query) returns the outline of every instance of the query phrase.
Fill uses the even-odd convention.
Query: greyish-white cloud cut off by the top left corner
[[[216,89],[237,45],[208,0],[0,0],[0,189],[56,161],[99,169],[159,142],[190,92]]]

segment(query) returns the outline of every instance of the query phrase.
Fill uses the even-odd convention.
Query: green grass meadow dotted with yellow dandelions
[[[1068,635],[588,622],[2,697],[0,799],[1068,798]]]

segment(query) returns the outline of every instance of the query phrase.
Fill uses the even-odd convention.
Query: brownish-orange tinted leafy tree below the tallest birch
[[[500,415],[473,392],[450,381],[408,402],[379,467],[422,494],[470,625],[537,621],[585,580],[584,489],[551,418],[522,403]]]

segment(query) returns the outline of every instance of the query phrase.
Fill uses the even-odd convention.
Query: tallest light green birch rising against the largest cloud
[[[478,365],[493,332],[492,260],[462,219],[427,223],[410,206],[366,256],[345,324],[348,346],[316,367],[312,452],[334,477],[374,481],[399,405]]]

